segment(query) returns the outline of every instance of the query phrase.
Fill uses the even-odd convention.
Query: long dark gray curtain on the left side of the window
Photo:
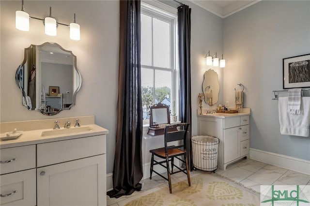
[[[141,190],[142,100],[140,68],[140,0],[120,1],[117,137],[110,197]]]

